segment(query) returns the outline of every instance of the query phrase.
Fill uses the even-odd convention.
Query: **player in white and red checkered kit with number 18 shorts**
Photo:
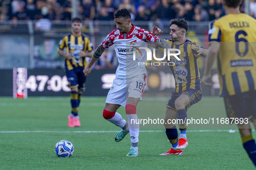
[[[116,71],[116,78],[113,80],[113,85],[107,94],[103,117],[122,128],[115,137],[116,142],[120,142],[130,131],[132,145],[130,152],[126,156],[137,157],[139,154],[139,124],[131,124],[131,120],[133,119],[138,122],[136,106],[142,100],[141,97],[146,85],[145,65],[138,65],[138,62],[146,62],[146,50],[141,50],[141,56],[136,57],[136,61],[129,60],[132,53],[128,54],[128,52],[131,51],[132,46],[142,47],[143,42],[144,47],[145,42],[154,42],[163,48],[171,47],[167,41],[154,36],[143,28],[133,25],[131,23],[130,11],[127,9],[118,10],[114,15],[114,20],[117,29],[107,35],[104,41],[97,47],[90,63],[88,63],[83,72],[84,76],[88,76],[91,72],[92,65],[101,56],[103,51],[115,44],[119,66]],[[156,29],[156,31],[158,30]],[[120,106],[125,107],[128,122],[117,113],[117,109]]]

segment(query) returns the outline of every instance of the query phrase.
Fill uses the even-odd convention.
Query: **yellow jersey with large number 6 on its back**
[[[220,43],[220,96],[256,90],[256,19],[229,13],[211,22],[209,43]]]

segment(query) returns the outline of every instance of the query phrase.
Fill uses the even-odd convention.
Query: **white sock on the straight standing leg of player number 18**
[[[131,142],[139,142],[139,119],[137,114],[127,114]],[[132,122],[131,122],[132,120]],[[138,124],[136,124],[138,123]]]

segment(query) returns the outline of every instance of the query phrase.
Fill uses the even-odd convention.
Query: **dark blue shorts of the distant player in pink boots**
[[[86,77],[83,73],[84,67],[74,67],[74,69],[68,70],[66,67],[66,76],[68,79],[68,87],[76,88],[85,91]]]

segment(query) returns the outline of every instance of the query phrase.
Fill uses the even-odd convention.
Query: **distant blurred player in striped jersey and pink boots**
[[[72,19],[73,31],[65,35],[59,43],[58,54],[64,57],[65,71],[68,79],[68,87],[71,88],[71,113],[68,116],[68,126],[81,126],[78,107],[81,94],[85,90],[83,69],[87,66],[85,57],[92,57],[93,47],[90,38],[82,34],[82,19]],[[65,52],[64,52],[65,50]]]

